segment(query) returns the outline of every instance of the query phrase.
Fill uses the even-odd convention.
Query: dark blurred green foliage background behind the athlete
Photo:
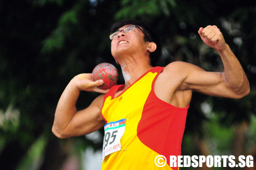
[[[251,93],[232,100],[195,92],[182,155],[253,155],[255,160],[256,1],[2,0],[0,169],[86,169],[85,151],[100,152],[102,131],[58,139],[51,132],[55,107],[75,75],[90,73],[102,62],[116,66],[109,29],[128,18],[157,30],[163,42],[158,66],[187,61],[209,71],[222,71],[223,66],[197,30],[218,25],[249,78]],[[77,107],[84,109],[98,95],[81,92]]]

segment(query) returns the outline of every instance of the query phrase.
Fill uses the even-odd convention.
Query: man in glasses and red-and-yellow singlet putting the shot
[[[91,73],[77,75],[60,97],[52,132],[68,138],[104,127],[102,169],[178,169],[168,165],[168,158],[181,154],[192,92],[242,98],[250,90],[241,64],[218,27],[201,27],[198,33],[219,53],[224,72],[206,72],[180,61],[152,67],[151,57],[159,53],[160,46],[151,29],[134,20],[114,24],[111,52],[123,70],[125,84],[102,90],[98,86],[103,81],[91,81]],[[102,95],[77,110],[81,90]],[[167,158],[162,168],[154,162],[158,155]]]

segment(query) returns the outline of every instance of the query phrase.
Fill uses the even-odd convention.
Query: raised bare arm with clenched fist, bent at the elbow
[[[205,72],[199,67],[188,66],[188,76],[184,81],[188,89],[228,98],[241,98],[249,94],[249,81],[244,70],[218,27],[208,25],[200,28],[198,33],[202,41],[221,56],[224,72]]]

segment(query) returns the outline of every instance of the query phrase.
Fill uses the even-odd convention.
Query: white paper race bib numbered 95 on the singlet
[[[125,127],[126,118],[105,124],[102,161],[104,160],[105,156],[121,150],[120,140],[124,135]]]

